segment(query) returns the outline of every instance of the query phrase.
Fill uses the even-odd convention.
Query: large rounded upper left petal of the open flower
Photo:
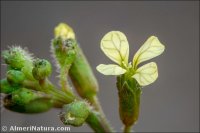
[[[108,32],[101,40],[101,49],[117,64],[122,65],[122,62],[128,64],[129,44],[122,32]]]

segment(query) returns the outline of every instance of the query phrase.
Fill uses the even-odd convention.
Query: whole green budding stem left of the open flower
[[[97,80],[73,29],[67,24],[61,23],[55,28],[51,51],[60,72],[61,89],[48,80],[52,73],[49,61],[35,59],[27,50],[16,46],[2,52],[7,65],[6,78],[1,80],[0,88],[0,92],[6,94],[4,107],[19,113],[41,113],[53,107],[63,108],[59,116],[64,124],[81,126],[88,123],[96,132],[110,132],[108,124],[103,123],[102,112],[98,110]],[[68,75],[80,97],[71,89]]]

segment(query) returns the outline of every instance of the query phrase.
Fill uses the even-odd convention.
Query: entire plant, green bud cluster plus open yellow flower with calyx
[[[48,79],[52,73],[52,65],[48,60],[36,58],[19,46],[9,47],[2,51],[7,66],[0,89],[1,93],[6,94],[4,107],[29,114],[61,108],[59,117],[65,125],[77,127],[87,123],[94,132],[115,132],[101,108],[97,97],[98,82],[73,29],[60,23],[55,27],[54,35],[51,52],[59,72],[60,87]],[[129,44],[122,32],[107,33],[100,46],[117,65],[100,64],[97,70],[104,75],[117,76],[119,114],[124,132],[131,132],[131,127],[139,117],[141,89],[158,78],[156,63],[138,65],[162,54],[165,47],[157,37],[151,36],[129,63]]]

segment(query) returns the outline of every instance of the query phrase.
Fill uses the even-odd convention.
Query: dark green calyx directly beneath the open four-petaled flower
[[[117,77],[120,118],[127,127],[138,120],[140,110],[141,87],[133,78],[125,75]]]

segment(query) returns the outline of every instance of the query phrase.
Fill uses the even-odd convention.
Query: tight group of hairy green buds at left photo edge
[[[25,85],[49,76],[50,63],[34,60],[27,50],[16,46],[3,51],[2,57],[7,65],[6,78],[1,80],[0,88],[0,92],[6,94],[4,107],[21,113],[40,113],[52,108],[51,95]]]

